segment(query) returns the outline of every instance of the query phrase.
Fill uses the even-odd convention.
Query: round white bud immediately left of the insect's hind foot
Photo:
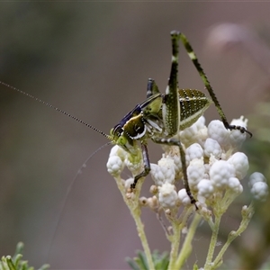
[[[225,129],[222,121],[211,121],[208,125],[208,135],[211,139],[215,139],[221,147],[228,146],[229,130]]]

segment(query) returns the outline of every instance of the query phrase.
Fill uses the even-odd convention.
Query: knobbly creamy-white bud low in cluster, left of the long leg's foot
[[[163,208],[175,207],[178,196],[174,184],[162,184],[158,187],[158,191],[158,201]]]

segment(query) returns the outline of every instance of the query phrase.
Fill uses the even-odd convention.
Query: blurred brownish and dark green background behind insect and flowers
[[[255,105],[267,99],[265,66],[270,61],[258,65],[257,54],[251,56],[238,33],[233,33],[236,40],[228,43],[215,40],[211,33],[220,23],[237,23],[267,43],[269,10],[270,3],[259,2],[0,3],[0,80],[108,133],[145,99],[148,77],[165,90],[171,60],[169,32],[179,30],[192,42],[228,119],[238,118],[253,113]],[[257,52],[261,55],[262,49]],[[179,86],[204,88],[184,49]],[[77,178],[50,245],[68,184],[86,157],[106,139],[0,87],[0,256],[13,254],[16,243],[23,241],[24,257],[30,265],[127,268],[124,258],[133,257],[141,247],[130,213],[106,172],[110,148],[95,154]],[[206,117],[208,122],[218,117],[213,106]],[[156,162],[160,153],[158,146],[150,145],[152,161]],[[260,158],[254,159],[260,162]],[[146,185],[151,183],[149,178]],[[234,209],[236,216],[242,204]],[[167,250],[155,214],[145,210],[143,216],[150,246]],[[246,242],[250,244],[250,239],[262,232],[262,220],[255,220],[257,223],[236,240],[238,245],[231,248],[227,259],[238,260],[240,243],[248,247]],[[233,212],[223,220],[223,237],[237,225]],[[195,261],[199,266],[203,263],[208,241],[202,229],[187,268]],[[222,235],[220,241],[224,242]]]

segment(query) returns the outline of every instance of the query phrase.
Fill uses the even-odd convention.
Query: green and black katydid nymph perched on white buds
[[[133,183],[130,185],[130,191],[134,192],[137,182],[141,177],[149,174],[150,162],[148,157],[148,139],[153,140],[158,144],[174,145],[179,147],[181,162],[184,175],[184,187],[186,193],[194,203],[193,194],[190,191],[185,164],[184,148],[182,147],[181,141],[175,139],[174,136],[179,130],[191,126],[195,121],[202,116],[203,112],[207,110],[211,103],[217,108],[220,114],[220,119],[224,126],[228,130],[240,130],[241,132],[247,132],[250,136],[252,134],[241,126],[230,125],[227,118],[220,107],[220,103],[213,92],[210,82],[205,75],[198,58],[196,57],[193,48],[189,41],[186,39],[183,33],[179,31],[171,31],[172,40],[172,65],[168,85],[166,87],[166,93],[161,94],[158,87],[153,79],[148,79],[147,87],[147,99],[126,114],[122,120],[114,126],[111,130],[110,135],[103,133],[96,129],[94,126],[81,121],[80,119],[72,116],[71,114],[64,112],[57,107],[41,101],[39,98],[27,94],[22,90],[15,88],[14,86],[7,85],[0,82],[2,85],[8,86],[21,94],[25,94],[36,101],[43,103],[50,108],[61,112],[68,117],[79,121],[85,126],[101,133],[113,144],[117,144],[124,150],[130,153],[130,155],[138,155],[138,144],[141,147],[141,154],[144,163],[143,171],[134,177]],[[178,88],[178,52],[179,52],[179,40],[182,41],[184,49],[187,51],[189,58],[193,61],[194,67],[196,67],[199,75],[202,78],[202,82],[205,85],[211,98],[208,98],[199,90],[195,89],[179,89]]]

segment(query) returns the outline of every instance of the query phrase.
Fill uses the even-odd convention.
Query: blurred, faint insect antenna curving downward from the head
[[[71,180],[70,184],[67,186],[67,192],[61,202],[61,205],[60,205],[60,208],[59,208],[59,213],[58,213],[58,217],[57,217],[57,220],[56,220],[56,225],[55,225],[55,229],[53,231],[53,235],[52,237],[50,238],[50,241],[49,241],[49,252],[47,254],[47,257],[46,257],[46,262],[49,261],[49,256],[50,256],[50,250],[51,250],[51,247],[52,247],[52,244],[56,238],[56,235],[57,235],[57,232],[58,232],[58,229],[59,229],[59,224],[60,224],[60,220],[62,219],[63,217],[63,214],[64,214],[64,210],[65,210],[65,207],[67,205],[67,198],[71,192],[71,190],[73,189],[74,187],[74,184],[76,183],[76,179],[79,175],[82,175],[88,161],[94,157],[94,155],[99,152],[100,150],[102,150],[103,148],[111,145],[113,142],[112,141],[108,141],[107,143],[103,144],[103,146],[101,146],[100,148],[97,148],[89,157],[87,157],[85,159],[85,162],[83,163],[82,166],[80,166],[80,168],[77,170],[76,172],[76,175],[73,177],[73,179]]]

